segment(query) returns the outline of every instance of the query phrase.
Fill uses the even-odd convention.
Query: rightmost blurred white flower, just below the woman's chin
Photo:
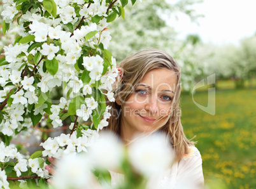
[[[131,164],[139,173],[152,176],[171,165],[174,151],[164,134],[138,136],[128,148]]]

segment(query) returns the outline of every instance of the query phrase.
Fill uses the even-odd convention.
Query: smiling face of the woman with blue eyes
[[[150,132],[162,126],[170,114],[176,89],[176,74],[165,68],[146,73],[122,106],[122,134]]]

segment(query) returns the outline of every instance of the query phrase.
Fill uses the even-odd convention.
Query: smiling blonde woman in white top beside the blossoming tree
[[[122,83],[115,93],[109,126],[124,143],[135,134],[162,131],[176,152],[176,163],[150,183],[150,188],[202,188],[202,159],[194,143],[183,133],[180,115],[180,68],[158,49],[140,51],[123,60]],[[122,174],[110,171],[112,181]]]

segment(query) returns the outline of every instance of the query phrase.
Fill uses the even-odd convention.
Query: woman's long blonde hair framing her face
[[[122,102],[125,102],[134,92],[132,91],[133,86],[136,86],[144,75],[154,68],[171,70],[176,74],[176,89],[171,104],[171,114],[168,115],[164,125],[157,128],[157,131],[166,133],[168,140],[171,141],[171,145],[176,151],[177,159],[180,160],[184,154],[188,153],[188,145],[194,145],[192,141],[185,137],[180,120],[180,67],[170,55],[159,49],[147,49],[128,56],[120,63],[119,67],[123,68],[124,76],[120,89],[115,93],[115,98],[120,101],[119,104],[121,105],[116,102],[109,103],[112,107],[112,116],[106,129],[121,136],[122,114],[120,112],[122,111]]]

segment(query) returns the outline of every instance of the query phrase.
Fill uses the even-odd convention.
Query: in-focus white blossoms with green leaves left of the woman
[[[9,143],[20,132],[27,131],[24,135],[27,136],[32,125],[62,127],[69,117],[65,122],[70,124],[71,133],[41,143],[45,149],[43,156],[59,158],[87,152],[99,130],[108,126],[111,107],[106,106],[106,99],[115,101],[113,84],[118,69],[108,51],[111,39],[108,22],[115,20],[117,14],[124,16],[124,2],[3,0],[3,3],[3,33],[17,20],[19,37],[4,46],[4,58],[0,60],[1,138],[6,137],[5,143]],[[63,95],[56,99],[55,91],[60,87]],[[50,99],[52,96],[54,100]],[[17,148],[4,147],[3,142],[1,148],[0,162],[17,159],[13,166],[17,176],[31,170],[41,178],[48,178],[41,157],[27,160]],[[8,173],[2,171],[2,174],[1,185],[8,187]]]

